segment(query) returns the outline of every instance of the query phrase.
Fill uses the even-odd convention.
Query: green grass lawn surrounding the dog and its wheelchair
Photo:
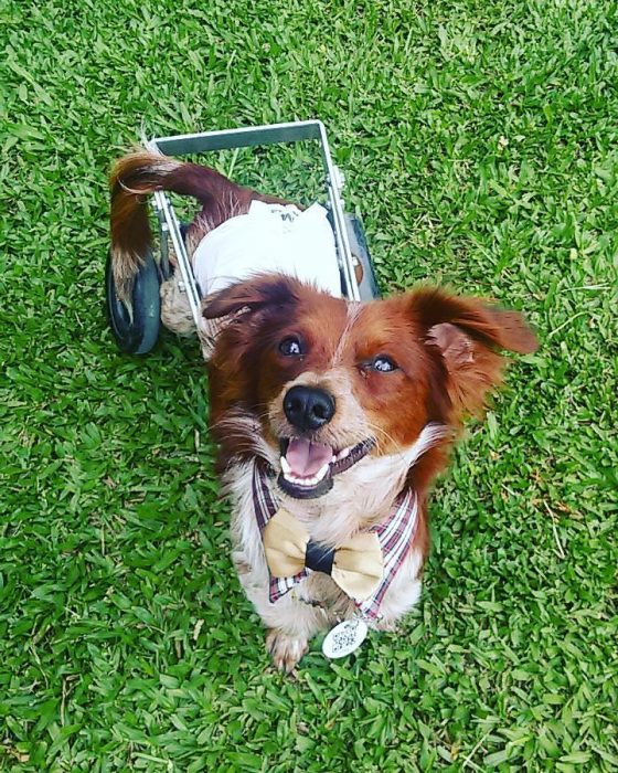
[[[617,770],[616,2],[0,20],[0,769]],[[339,663],[315,642],[291,681],[230,563],[199,350],[120,356],[103,267],[106,172],[140,127],[310,117],[383,289],[493,296],[541,349],[437,487],[403,633]]]

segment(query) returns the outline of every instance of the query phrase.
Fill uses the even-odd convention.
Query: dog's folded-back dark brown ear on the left
[[[298,301],[299,283],[283,274],[257,275],[238,282],[207,298],[202,315],[205,319],[244,316],[265,308],[284,309]]]

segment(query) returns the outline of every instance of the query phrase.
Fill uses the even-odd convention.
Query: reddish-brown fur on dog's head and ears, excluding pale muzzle
[[[259,420],[274,447],[278,438],[268,423],[268,406],[286,383],[303,372],[326,378],[333,366],[345,370],[354,398],[381,441],[374,455],[382,455],[412,446],[429,422],[451,426],[455,437],[465,416],[478,413],[488,392],[500,383],[504,360],[496,348],[526,352],[536,347],[521,315],[435,289],[366,304],[347,330],[345,301],[294,279],[266,277],[224,290],[205,309],[209,318],[230,314],[236,314],[236,320],[221,335],[210,363],[215,434],[222,419],[241,409]],[[290,361],[277,346],[292,333],[303,341],[307,353]],[[364,363],[377,354],[391,357],[399,370],[365,369]],[[251,448],[226,432],[217,436],[225,463]],[[428,491],[447,464],[449,443],[450,438],[430,448],[408,474],[423,505],[416,534],[423,554],[429,542]]]

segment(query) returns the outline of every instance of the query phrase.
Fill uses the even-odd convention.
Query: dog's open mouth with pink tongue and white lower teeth
[[[371,437],[349,448],[337,451],[305,437],[281,441],[281,473],[277,483],[290,497],[315,499],[333,485],[333,477],[350,469],[375,445]]]

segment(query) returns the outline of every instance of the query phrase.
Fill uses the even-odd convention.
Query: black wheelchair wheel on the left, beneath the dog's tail
[[[161,297],[159,272],[149,252],[134,284],[132,316],[116,295],[111,256],[107,253],[105,294],[107,321],[120,351],[147,354],[159,338],[161,327]]]

